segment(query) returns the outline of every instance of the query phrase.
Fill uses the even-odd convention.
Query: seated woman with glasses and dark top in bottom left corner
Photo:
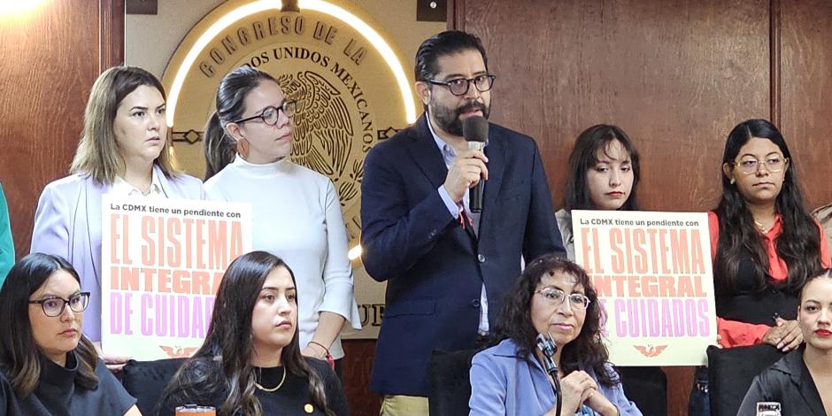
[[[58,256],[34,253],[0,290],[0,414],[141,415],[81,335],[89,292]]]

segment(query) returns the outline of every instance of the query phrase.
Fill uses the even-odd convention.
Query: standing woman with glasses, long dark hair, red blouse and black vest
[[[793,351],[804,341],[797,295],[832,263],[826,235],[805,209],[789,146],[767,120],[731,130],[721,167],[722,198],[708,212],[719,343]],[[689,414],[710,414],[704,368],[690,397]]]

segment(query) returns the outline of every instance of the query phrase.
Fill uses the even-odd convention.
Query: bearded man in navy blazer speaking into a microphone
[[[370,150],[361,184],[364,265],[387,281],[371,383],[383,415],[428,414],[432,351],[488,335],[521,259],[565,255],[535,141],[485,121],[496,76],[480,40],[435,35],[415,72],[425,113]]]

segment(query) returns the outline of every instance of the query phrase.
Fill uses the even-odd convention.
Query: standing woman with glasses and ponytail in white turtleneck
[[[297,103],[249,66],[220,81],[216,102],[205,132],[205,190],[211,199],[251,203],[253,249],[280,256],[296,273],[304,355],[326,358],[340,374],[338,334],[345,322],[360,328],[346,227],[332,181],[289,159]]]

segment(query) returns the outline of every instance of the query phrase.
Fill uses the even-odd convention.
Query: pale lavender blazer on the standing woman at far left
[[[168,198],[205,199],[202,181],[181,174],[167,178],[153,166]],[[66,258],[81,276],[81,290],[89,291],[84,334],[101,341],[101,196],[110,192],[85,173],[51,182],[43,189],[35,212],[30,252]]]

